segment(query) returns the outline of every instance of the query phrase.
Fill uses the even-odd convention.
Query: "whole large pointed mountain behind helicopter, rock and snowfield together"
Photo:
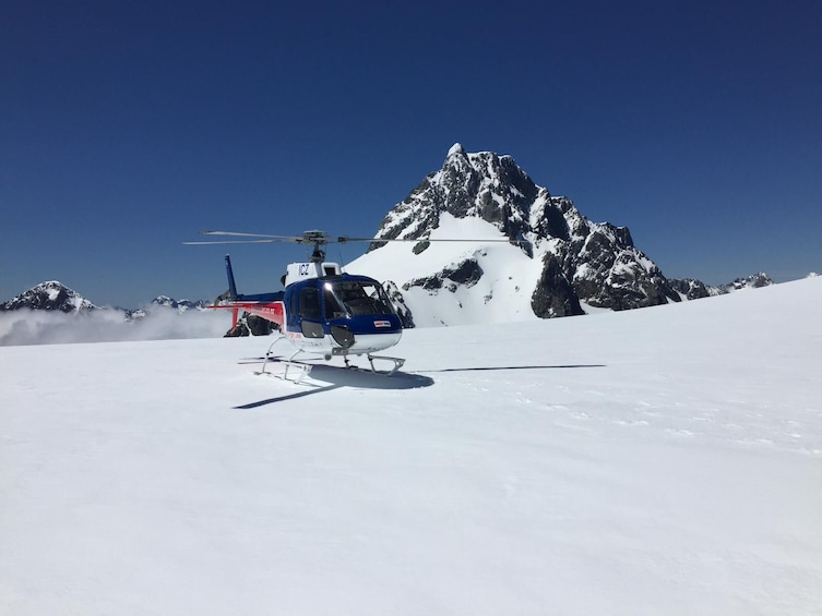
[[[511,156],[460,144],[388,213],[376,238],[419,242],[376,242],[347,269],[395,283],[417,325],[571,316],[727,292],[668,280],[627,227],[588,220]],[[443,239],[477,241],[426,241]]]

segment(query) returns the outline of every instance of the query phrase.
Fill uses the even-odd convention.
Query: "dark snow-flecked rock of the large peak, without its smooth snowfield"
[[[440,227],[444,214],[489,222],[516,240],[513,250],[538,262],[540,274],[515,286],[516,292],[531,290],[531,310],[536,316],[583,314],[582,304],[627,310],[682,299],[634,246],[627,227],[588,220],[571,200],[537,185],[509,155],[468,153],[454,144],[442,167],[426,176],[386,214],[376,237],[425,240]],[[376,242],[369,252],[386,245]],[[429,246],[422,241],[413,252],[420,255]],[[436,289],[455,292],[460,282],[451,277],[451,270],[458,270],[460,264],[442,266],[440,271],[395,282],[403,289],[420,286],[429,293]],[[479,273],[487,269],[480,261],[476,266]],[[451,283],[444,285],[446,279]],[[495,295],[486,293],[486,303],[488,297]]]

